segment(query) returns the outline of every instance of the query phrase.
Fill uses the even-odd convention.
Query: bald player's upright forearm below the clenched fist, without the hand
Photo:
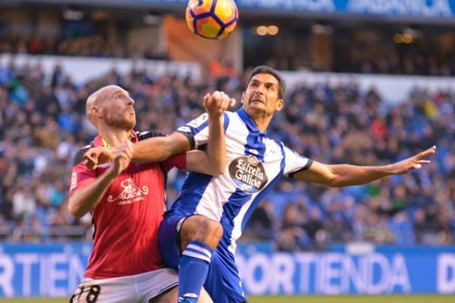
[[[223,129],[223,115],[209,118],[207,156],[212,175],[223,173],[226,166],[226,143]]]

